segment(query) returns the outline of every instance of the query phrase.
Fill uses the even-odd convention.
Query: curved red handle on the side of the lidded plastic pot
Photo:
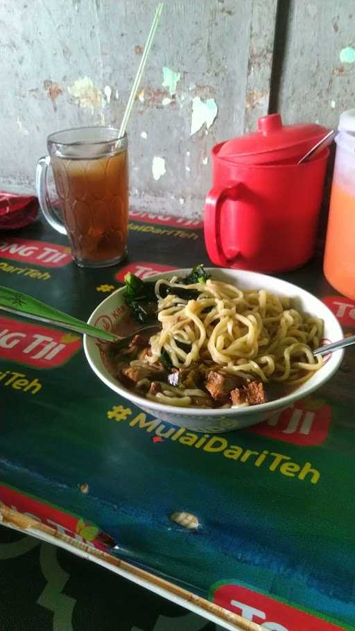
[[[205,242],[207,252],[213,263],[229,267],[231,260],[239,256],[238,250],[232,257],[227,257],[220,241],[220,209],[225,200],[240,198],[240,182],[233,182],[226,187],[216,187],[207,193],[205,200]]]

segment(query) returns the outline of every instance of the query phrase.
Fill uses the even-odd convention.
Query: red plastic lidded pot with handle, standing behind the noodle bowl
[[[205,243],[213,263],[272,273],[311,258],[329,149],[297,162],[327,131],[315,123],[283,126],[270,114],[257,132],[212,148]]]

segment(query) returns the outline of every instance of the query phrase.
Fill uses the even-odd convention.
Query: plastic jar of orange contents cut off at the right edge
[[[355,110],[340,116],[324,253],[324,275],[355,300]]]

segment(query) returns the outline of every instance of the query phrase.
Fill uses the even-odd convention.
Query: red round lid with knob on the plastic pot
[[[255,158],[255,162],[275,162],[306,153],[329,130],[317,123],[283,125],[281,114],[268,114],[258,119],[257,132],[227,140],[220,146],[218,157],[235,158],[239,162]],[[270,154],[270,155],[268,155]]]

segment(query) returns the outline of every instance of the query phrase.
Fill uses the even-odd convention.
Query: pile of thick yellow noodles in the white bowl
[[[159,279],[155,284],[162,330],[150,338],[152,355],[132,364],[154,364],[165,350],[175,368],[205,362],[246,379],[289,386],[303,383],[322,366],[322,358],[311,350],[321,343],[322,320],[293,309],[287,297],[264,289],[241,291],[209,279],[184,285],[199,293],[196,300],[184,300],[173,293],[174,287],[181,289],[177,280]],[[159,297],[162,284],[171,291],[164,298]],[[191,405],[190,397],[198,396],[206,392],[166,385],[149,398],[184,407]]]

